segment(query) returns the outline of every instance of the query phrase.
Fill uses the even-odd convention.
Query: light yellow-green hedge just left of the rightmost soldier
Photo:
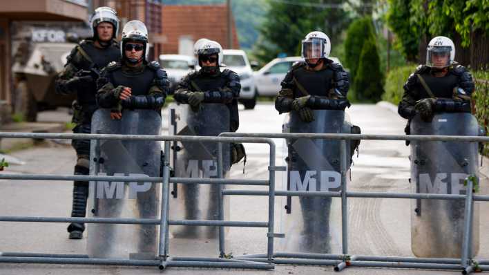
[[[385,92],[382,95],[382,100],[396,105],[399,104],[403,98],[403,86],[408,80],[409,75],[414,73],[414,70],[416,70],[416,65],[414,64],[390,70],[385,79]]]

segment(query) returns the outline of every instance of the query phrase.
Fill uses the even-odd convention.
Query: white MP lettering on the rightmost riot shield
[[[466,173],[437,173],[432,178],[429,173],[420,173],[419,193],[463,195],[466,193],[463,182],[467,177]]]

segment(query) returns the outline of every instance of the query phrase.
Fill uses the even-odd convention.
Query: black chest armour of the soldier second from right
[[[296,82],[303,86],[309,95],[327,96],[331,88],[333,88],[333,70],[325,68],[323,70],[307,70],[305,67],[300,67],[294,71]],[[296,83],[294,89],[294,97],[305,96]]]

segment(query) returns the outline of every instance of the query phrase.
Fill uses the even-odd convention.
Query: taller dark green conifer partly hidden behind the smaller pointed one
[[[352,82],[355,82],[363,44],[366,40],[374,40],[374,33],[374,26],[370,17],[357,19],[348,27],[345,39],[345,67],[349,69]]]

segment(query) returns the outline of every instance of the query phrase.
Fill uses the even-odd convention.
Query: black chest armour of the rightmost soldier
[[[453,88],[458,86],[459,79],[457,75],[448,73],[444,77],[434,77],[430,72],[422,73],[421,77],[426,82],[435,97],[452,98]],[[430,94],[425,91],[425,88],[419,83],[419,98],[428,98]]]

